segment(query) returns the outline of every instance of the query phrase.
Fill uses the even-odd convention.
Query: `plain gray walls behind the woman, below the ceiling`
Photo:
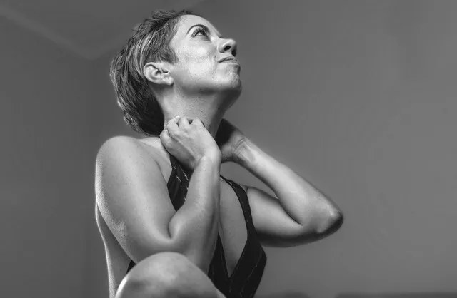
[[[345,214],[325,240],[266,248],[258,293],[457,292],[457,1],[192,9],[238,41],[244,88],[226,118]],[[81,58],[6,18],[0,36],[0,295],[107,297],[95,156],[138,136],[107,76],[114,51]]]

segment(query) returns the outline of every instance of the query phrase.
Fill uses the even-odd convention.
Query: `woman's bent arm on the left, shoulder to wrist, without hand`
[[[208,271],[219,227],[218,155],[196,161],[184,205],[176,212],[154,155],[137,140],[111,138],[96,161],[96,202],[131,260],[180,252]]]

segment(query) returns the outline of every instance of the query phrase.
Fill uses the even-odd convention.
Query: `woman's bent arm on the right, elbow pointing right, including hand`
[[[225,133],[225,142],[221,134]],[[221,134],[220,134],[221,133]],[[283,163],[263,152],[228,121],[218,130],[219,148],[226,160],[246,168],[273,190],[276,197],[244,186],[253,224],[263,245],[291,247],[336,232],[343,214],[336,204]]]

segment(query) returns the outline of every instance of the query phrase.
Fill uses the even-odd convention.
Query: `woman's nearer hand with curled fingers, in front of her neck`
[[[160,134],[162,145],[186,168],[194,170],[200,158],[221,160],[221,150],[199,118],[176,116]]]

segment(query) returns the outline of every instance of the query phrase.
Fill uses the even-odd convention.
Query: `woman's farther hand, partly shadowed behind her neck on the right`
[[[233,161],[236,163],[239,150],[244,140],[246,140],[246,136],[238,128],[229,123],[229,121],[222,119],[215,140],[221,150],[221,162]]]

